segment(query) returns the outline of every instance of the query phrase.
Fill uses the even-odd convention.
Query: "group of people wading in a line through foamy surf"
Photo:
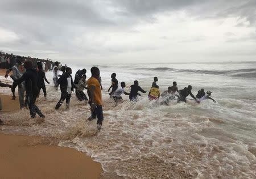
[[[90,69],[91,77],[86,80],[86,69],[78,70],[75,74],[75,79],[72,78],[72,69],[70,67],[61,66],[59,62],[55,62],[53,68],[53,83],[56,91],[60,87],[60,100],[57,102],[55,106],[55,110],[58,110],[60,106],[66,101],[66,108],[69,109],[69,103],[71,100],[71,94],[75,90],[76,97],[79,101],[85,101],[85,104],[89,103],[91,116],[88,118],[88,121],[92,121],[97,117],[97,129],[100,130],[102,126],[102,121],[104,120],[103,116],[103,108],[102,108],[102,96],[101,96],[101,77],[100,77],[100,69],[98,67],[92,67]],[[35,101],[39,96],[40,89],[43,89],[44,97],[47,97],[46,86],[44,81],[47,83],[48,80],[46,78],[46,74],[44,73],[42,62],[38,61],[36,63],[36,67],[30,59],[27,59],[22,62],[22,58],[16,58],[16,64],[12,68],[13,75],[11,78],[14,80],[13,86],[8,84],[0,83],[2,87],[10,87],[11,91],[14,94],[15,87],[18,86],[18,94],[19,94],[19,103],[20,109],[24,108],[24,106],[28,105],[30,109],[31,118],[35,118],[36,114],[39,117],[45,118],[44,114],[40,111],[38,106],[36,106]],[[60,71],[62,74],[60,75]],[[8,74],[8,71],[6,75]],[[117,74],[113,73],[111,76],[111,86],[108,91],[110,98],[115,101],[115,105],[121,103],[123,101],[121,95],[124,93],[125,95],[129,95],[130,101],[136,103],[141,96],[139,93],[147,93],[139,86],[138,80],[134,81],[134,84],[130,86],[130,92],[126,92],[124,88],[126,87],[125,82],[121,82],[121,87],[118,88],[118,80]],[[150,101],[160,101],[160,105],[168,105],[173,103],[172,101],[177,101],[177,103],[184,102],[187,103],[187,96],[190,95],[196,103],[200,103],[203,100],[213,100],[214,103],[216,101],[210,97],[211,91],[204,92],[204,89],[198,91],[196,97],[192,94],[192,86],[188,85],[182,90],[178,90],[177,83],[173,82],[173,86],[168,87],[166,91],[162,94],[160,93],[159,86],[157,84],[158,78],[154,77],[154,82],[152,82],[152,86],[150,91],[148,92],[148,100]],[[87,94],[84,93],[84,90],[87,89]],[[26,97],[24,97],[24,92],[26,91]],[[25,98],[25,102],[24,102]],[[13,97],[15,99],[15,97]],[[1,123],[2,121],[0,121]]]

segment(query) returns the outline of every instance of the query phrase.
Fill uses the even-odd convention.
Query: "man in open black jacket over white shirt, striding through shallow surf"
[[[57,80],[57,85],[60,84],[61,96],[59,102],[55,106],[55,110],[59,109],[64,100],[66,100],[66,107],[69,109],[69,102],[71,98],[71,93],[74,91],[74,84],[72,79],[72,69],[67,67],[66,73],[60,76]],[[56,86],[55,86],[56,87]]]

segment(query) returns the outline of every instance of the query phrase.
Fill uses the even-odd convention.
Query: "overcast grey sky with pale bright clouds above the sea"
[[[63,63],[256,61],[256,0],[1,0],[0,50]]]

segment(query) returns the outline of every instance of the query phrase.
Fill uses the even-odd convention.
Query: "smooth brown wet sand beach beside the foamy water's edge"
[[[0,97],[0,118],[1,113],[19,110],[18,95],[13,101],[0,90]],[[102,173],[101,164],[85,153],[52,146],[43,137],[2,134],[0,126],[0,141],[0,178],[100,178]]]

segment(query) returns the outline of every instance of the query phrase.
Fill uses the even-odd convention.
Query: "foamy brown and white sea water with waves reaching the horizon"
[[[96,120],[87,122],[89,105],[72,95],[69,110],[55,111],[60,91],[47,87],[37,100],[46,115],[30,119],[27,110],[2,114],[7,134],[40,135],[59,146],[86,152],[102,164],[102,178],[256,178],[256,62],[155,63],[97,65],[101,71],[104,122],[97,131]],[[75,76],[77,66],[72,66]],[[92,65],[80,66],[90,77]],[[149,91],[158,76],[161,92],[177,82],[179,90],[191,84],[192,93],[212,91],[212,100],[159,105],[147,99],[115,106],[108,95],[110,75],[126,83],[134,80]],[[52,72],[47,73],[52,83]],[[1,77],[0,80],[6,81]],[[11,94],[7,88],[1,93]],[[188,99],[192,97],[188,96]],[[189,100],[190,101],[190,100]],[[68,162],[68,161],[67,161]]]

